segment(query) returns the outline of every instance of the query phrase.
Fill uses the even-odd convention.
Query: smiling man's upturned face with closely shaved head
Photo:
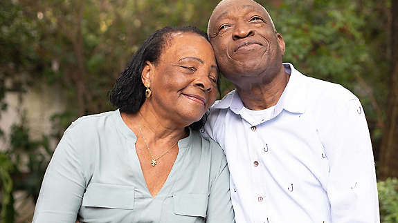
[[[282,66],[282,36],[255,1],[222,1],[210,17],[208,35],[219,69],[234,84]]]

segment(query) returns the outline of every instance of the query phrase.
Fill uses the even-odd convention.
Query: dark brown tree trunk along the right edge
[[[379,154],[379,178],[398,177],[398,1],[391,1],[390,93],[383,139]]]

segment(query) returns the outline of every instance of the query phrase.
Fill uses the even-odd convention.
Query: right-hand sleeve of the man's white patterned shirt
[[[323,112],[318,129],[329,162],[327,195],[333,223],[380,222],[368,124],[358,99]]]

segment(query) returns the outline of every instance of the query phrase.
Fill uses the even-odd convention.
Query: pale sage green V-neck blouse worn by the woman
[[[119,110],[73,122],[48,165],[33,222],[235,222],[228,166],[217,143],[191,130],[152,197],[136,139]]]

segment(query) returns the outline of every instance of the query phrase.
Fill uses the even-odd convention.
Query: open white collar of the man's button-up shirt
[[[292,64],[283,64],[287,72],[290,71],[289,82],[282,93],[278,103],[273,111],[273,117],[277,116],[282,110],[288,110],[291,113],[304,113],[307,97],[307,86],[305,75],[296,70]],[[243,108],[242,100],[236,90],[232,90],[220,101],[216,101],[213,108],[230,108],[233,113],[239,115]]]

